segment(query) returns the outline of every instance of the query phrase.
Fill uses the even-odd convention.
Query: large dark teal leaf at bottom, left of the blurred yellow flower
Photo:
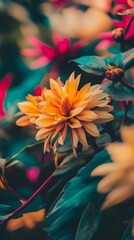
[[[50,234],[50,239],[62,240],[67,239],[68,236],[69,239],[74,240],[76,236],[78,237],[76,233],[80,232],[82,234],[82,221],[86,221],[88,214],[88,212],[84,213],[84,211],[86,208],[88,209],[87,206],[92,208],[93,205],[94,208],[88,209],[88,211],[92,212],[93,210],[94,221],[93,224],[90,222],[88,226],[90,234],[94,235],[99,224],[97,216],[100,216],[100,205],[103,196],[96,191],[99,179],[91,177],[90,173],[99,164],[109,161],[111,160],[106,151],[96,154],[93,160],[82,168],[76,177],[68,182],[60,194],[61,197],[45,219],[45,230]],[[79,229],[80,221],[82,225]]]

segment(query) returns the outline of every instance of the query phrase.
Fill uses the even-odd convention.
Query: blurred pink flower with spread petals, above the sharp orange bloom
[[[68,52],[75,54],[83,44],[85,45],[83,41],[77,41],[71,44],[69,38],[61,37],[59,34],[52,35],[54,47],[40,41],[35,36],[29,36],[28,41],[34,48],[24,48],[21,50],[21,53],[24,56],[37,57],[31,64],[31,67],[34,69],[46,66],[55,60],[58,62],[58,60],[60,60],[62,56],[66,56]]]

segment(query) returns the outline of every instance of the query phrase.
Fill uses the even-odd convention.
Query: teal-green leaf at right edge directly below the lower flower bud
[[[134,91],[121,83],[114,85],[112,82],[107,82],[102,85],[102,89],[116,101],[132,101],[134,99]]]

